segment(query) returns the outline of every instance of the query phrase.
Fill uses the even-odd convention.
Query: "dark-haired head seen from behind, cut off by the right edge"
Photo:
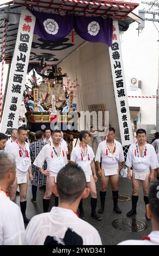
[[[146,205],[146,215],[152,224],[158,225],[159,230],[159,181],[155,181],[149,188],[149,204]],[[153,226],[154,229],[154,226]]]

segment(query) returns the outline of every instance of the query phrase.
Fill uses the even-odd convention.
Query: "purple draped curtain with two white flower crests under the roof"
[[[103,42],[112,44],[113,21],[101,16],[71,16],[39,13],[39,11],[30,10],[36,17],[34,34],[40,38],[50,41],[56,41],[64,38],[72,29],[89,42]]]

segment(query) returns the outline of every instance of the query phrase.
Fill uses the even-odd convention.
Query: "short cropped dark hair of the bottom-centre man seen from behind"
[[[83,169],[76,163],[66,164],[57,175],[60,202],[73,203],[87,187]]]

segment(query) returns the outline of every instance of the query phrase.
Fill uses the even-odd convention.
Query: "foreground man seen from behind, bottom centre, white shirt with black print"
[[[80,200],[89,192],[82,168],[66,164],[53,185],[53,193],[59,194],[59,206],[32,218],[26,229],[27,245],[101,245],[98,231],[76,213]]]

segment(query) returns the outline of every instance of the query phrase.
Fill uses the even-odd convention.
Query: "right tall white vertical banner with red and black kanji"
[[[113,21],[113,41],[112,46],[109,46],[109,56],[111,61],[115,101],[118,112],[121,144],[124,147],[133,143],[133,135],[127,100],[123,59],[121,55],[118,21]]]

